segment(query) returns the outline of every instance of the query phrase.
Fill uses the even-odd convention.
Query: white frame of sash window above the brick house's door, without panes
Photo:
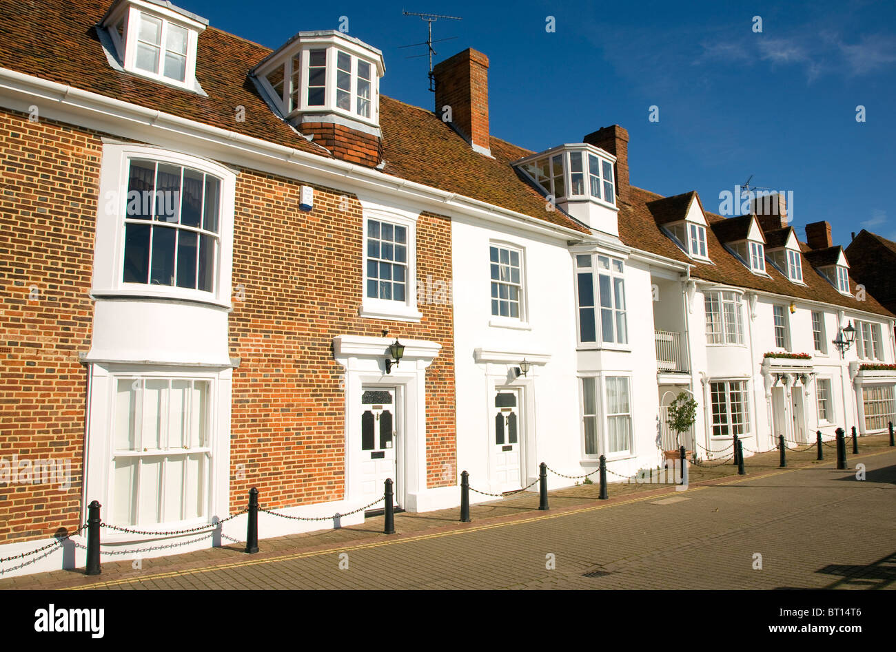
[[[364,232],[361,245],[364,247],[361,255],[360,292],[361,309],[359,315],[370,319],[385,319],[395,322],[419,322],[423,313],[417,305],[417,220],[419,213],[412,210],[403,210],[394,206],[376,204],[374,202],[361,201],[363,208],[363,220],[361,227]],[[405,271],[405,296],[404,301],[394,299],[380,299],[367,296],[367,222],[375,219],[378,222],[388,222],[407,229],[407,270]]]

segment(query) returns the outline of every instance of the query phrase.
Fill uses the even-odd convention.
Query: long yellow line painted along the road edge
[[[887,452],[893,452],[893,451],[892,450],[882,450],[881,452],[878,452],[878,453],[868,453],[866,455],[858,455],[858,456],[855,456],[853,459],[856,459],[856,457],[870,458],[870,457],[874,457],[875,455],[883,455],[884,453],[887,453]],[[780,476],[782,474],[792,473],[794,471],[799,471],[801,469],[802,468],[788,468],[788,469],[782,469],[779,471],[772,471],[770,473],[763,474],[762,476],[736,477],[733,480],[728,480],[726,482],[719,482],[719,483],[715,483],[713,485],[694,486],[694,488],[687,489],[687,492],[694,493],[694,492],[701,491],[702,489],[706,489],[706,488],[713,487],[713,486],[734,485],[736,483],[745,482],[747,480],[758,480],[762,477]],[[609,503],[604,502],[604,503],[599,503],[597,505],[590,505],[589,507],[582,507],[581,509],[578,509],[578,510],[560,511],[560,512],[554,512],[554,513],[548,513],[548,514],[538,514],[538,516],[532,516],[532,517],[529,517],[528,519],[501,521],[498,523],[487,523],[486,525],[473,526],[470,528],[460,528],[460,529],[455,529],[455,530],[449,530],[447,532],[433,532],[433,533],[430,533],[427,535],[406,536],[404,538],[387,539],[384,541],[374,541],[374,542],[367,543],[367,544],[342,545],[339,547],[327,548],[326,550],[316,550],[316,551],[310,551],[310,552],[306,552],[306,553],[282,554],[277,557],[266,557],[264,559],[246,560],[245,562],[232,562],[232,563],[220,564],[217,566],[210,566],[210,567],[205,567],[205,568],[186,569],[184,571],[169,571],[169,572],[156,573],[154,575],[146,575],[146,576],[134,577],[134,578],[113,579],[108,582],[97,582],[97,583],[93,583],[93,584],[87,584],[82,587],[66,587],[62,590],[80,591],[80,590],[83,590],[86,588],[114,587],[114,586],[117,586],[120,584],[132,584],[134,582],[151,581],[152,579],[166,579],[166,578],[181,577],[181,576],[185,576],[185,575],[198,575],[200,573],[223,571],[226,569],[233,569],[233,568],[243,568],[246,566],[255,566],[258,564],[273,563],[273,562],[285,562],[285,561],[296,560],[296,559],[307,559],[309,557],[319,557],[323,554],[344,553],[344,552],[349,552],[352,550],[366,550],[369,548],[378,548],[383,545],[397,545],[397,544],[412,543],[415,541],[426,541],[429,539],[440,538],[442,536],[454,536],[454,535],[467,534],[470,532],[482,532],[487,529],[504,528],[507,526],[521,525],[523,523],[534,523],[534,522],[540,521],[540,520],[559,519],[564,516],[573,516],[574,514],[583,514],[583,513],[589,512],[589,511],[605,510],[609,507],[617,507],[620,505],[630,505],[634,502],[655,500],[655,499],[663,498],[664,496],[675,495],[676,493],[683,493],[683,492],[673,490],[673,491],[668,491],[666,493],[651,493],[649,496],[642,496],[640,498],[632,498],[627,501],[609,502]]]

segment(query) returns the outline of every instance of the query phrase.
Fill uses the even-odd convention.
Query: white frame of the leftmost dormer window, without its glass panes
[[[159,41],[159,70],[157,73],[137,67],[137,40],[143,16],[159,20],[162,23]],[[121,21],[124,21],[124,41],[116,30],[116,25]],[[187,31],[184,81],[166,77],[164,74],[166,39],[168,26],[171,24]],[[130,3],[122,4],[119,10],[110,14],[104,26],[108,29],[108,33],[116,47],[116,54],[128,73],[151,79],[154,82],[195,92],[196,47],[199,42],[199,34],[202,30],[205,30],[204,23],[191,20],[184,14],[168,10],[165,7],[152,6],[132,0]]]

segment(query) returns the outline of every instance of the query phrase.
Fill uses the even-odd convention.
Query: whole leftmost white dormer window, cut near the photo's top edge
[[[196,90],[196,44],[208,21],[172,4],[119,0],[103,21],[129,73]]]

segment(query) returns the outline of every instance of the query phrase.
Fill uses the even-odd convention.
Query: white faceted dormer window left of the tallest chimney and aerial
[[[383,55],[338,31],[299,32],[254,70],[274,105],[290,122],[331,114],[378,125],[378,85]],[[339,120],[337,120],[339,121]]]

